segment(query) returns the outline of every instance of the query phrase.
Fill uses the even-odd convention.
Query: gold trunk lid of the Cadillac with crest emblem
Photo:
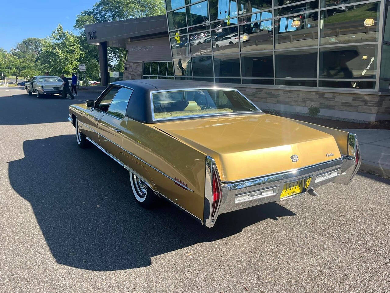
[[[169,121],[154,127],[213,157],[224,182],[341,157],[330,134],[268,114]]]

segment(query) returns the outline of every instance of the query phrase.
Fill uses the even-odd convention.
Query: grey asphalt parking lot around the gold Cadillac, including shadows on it
[[[358,173],[200,226],[142,209],[68,106],[0,88],[0,292],[389,292],[390,180]]]

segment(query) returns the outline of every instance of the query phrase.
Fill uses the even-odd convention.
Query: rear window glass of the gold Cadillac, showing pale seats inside
[[[237,91],[202,89],[153,93],[154,119],[260,111]]]

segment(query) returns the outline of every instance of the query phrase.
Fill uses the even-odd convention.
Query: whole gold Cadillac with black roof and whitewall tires
[[[355,134],[265,114],[207,82],[114,82],[71,105],[69,121],[80,147],[130,172],[140,205],[166,198],[207,227],[222,213],[349,184],[361,163]]]

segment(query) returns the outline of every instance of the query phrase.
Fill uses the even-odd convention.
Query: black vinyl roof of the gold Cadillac
[[[152,118],[152,105],[150,99],[151,91],[163,91],[171,89],[191,89],[191,88],[232,88],[225,84],[215,84],[214,82],[193,81],[193,80],[171,80],[171,79],[136,79],[121,80],[111,84],[111,86],[124,86],[133,89],[126,115],[130,118],[145,122],[156,123]],[[108,88],[111,88],[108,86]],[[102,95],[105,95],[107,89]]]

